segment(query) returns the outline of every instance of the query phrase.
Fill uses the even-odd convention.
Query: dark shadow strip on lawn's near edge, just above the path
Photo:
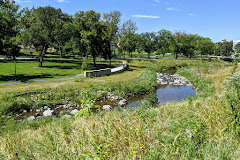
[[[0,75],[0,81],[1,82],[7,82],[7,81],[14,81],[16,79],[16,81],[21,81],[21,82],[25,82],[25,81],[30,81],[33,79],[41,79],[41,78],[54,78],[54,76],[66,76],[66,75],[50,75],[50,74],[39,74],[39,75],[25,75],[25,74],[18,74],[16,77],[15,75],[9,75],[9,76],[4,76],[4,75]]]

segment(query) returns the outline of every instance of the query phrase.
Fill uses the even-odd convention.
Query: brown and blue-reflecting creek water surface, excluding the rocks
[[[163,71],[163,73],[167,74],[174,74],[176,73],[176,70],[167,70]],[[195,95],[195,90],[192,87],[189,86],[174,86],[174,85],[159,85],[158,88],[155,90],[155,92],[147,94],[147,95],[138,95],[133,97],[128,97],[126,100],[128,101],[127,108],[131,107],[139,107],[144,100],[154,98],[157,99],[158,104],[163,104],[166,102],[172,102],[172,101],[182,101],[188,97],[192,97]],[[111,105],[112,107],[118,107],[118,101],[111,101],[109,99],[104,99],[102,101],[95,102],[96,106],[103,106],[103,105]],[[80,107],[71,107],[71,110],[73,109],[80,109]],[[98,108],[100,109],[100,108]],[[93,111],[97,111],[98,109],[93,109]],[[64,108],[56,108],[54,109],[57,116],[60,116],[61,112],[69,112],[69,109]],[[21,113],[20,115],[16,116],[16,119],[24,119],[29,116],[36,116],[39,113],[33,111],[33,112],[26,112]]]

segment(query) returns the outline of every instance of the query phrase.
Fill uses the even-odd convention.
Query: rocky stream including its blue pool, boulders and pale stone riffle
[[[132,107],[138,107],[142,104],[144,100],[147,100],[149,98],[153,98],[159,105],[164,104],[166,102],[172,102],[172,101],[182,101],[188,97],[194,96],[195,90],[193,89],[190,82],[188,82],[184,77],[181,77],[176,73],[177,70],[166,70],[161,73],[157,73],[158,75],[158,83],[159,86],[155,90],[155,92],[147,94],[147,95],[138,95],[133,97],[128,97],[124,100],[127,101],[126,105],[123,105],[126,108],[132,108]],[[162,84],[161,84],[162,83]],[[99,106],[101,109],[104,105],[110,105],[109,107],[115,108],[118,107],[118,103],[121,99],[113,100],[110,99],[103,99],[102,101],[96,101],[94,104],[95,106]],[[60,117],[61,112],[66,113],[67,116],[70,116],[71,114],[74,115],[80,110],[80,106],[78,105],[76,107],[76,104],[72,104],[70,107],[66,107],[67,105],[59,105],[55,108],[42,108],[42,109],[36,109],[31,112],[22,112],[18,114],[15,119],[17,120],[23,120],[28,117],[28,120],[33,119],[39,119],[42,116],[44,116],[44,110],[45,111],[52,111],[52,115],[56,115],[57,117]],[[47,107],[47,106],[46,106]],[[93,109],[93,111],[96,111],[98,109]],[[39,110],[39,111],[38,111]],[[72,111],[74,113],[72,113]],[[52,116],[50,113],[50,116]]]

